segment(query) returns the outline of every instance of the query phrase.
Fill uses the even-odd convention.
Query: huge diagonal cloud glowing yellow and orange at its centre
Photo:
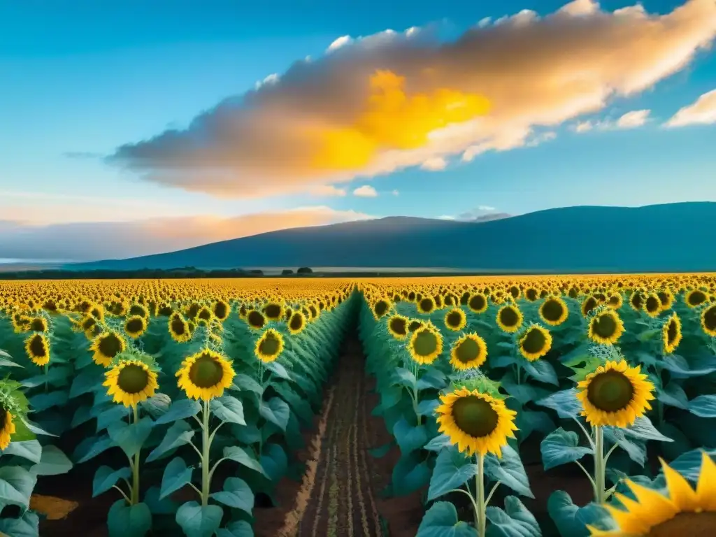
[[[243,198],[450,155],[469,161],[637,95],[687,66],[715,35],[713,0],[666,14],[576,0],[543,17],[523,10],[483,22],[453,42],[426,29],[343,37],[185,130],[127,143],[108,160],[155,183]]]

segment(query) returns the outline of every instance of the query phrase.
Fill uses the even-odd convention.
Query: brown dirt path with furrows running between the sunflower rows
[[[357,335],[349,334],[309,448],[299,455],[306,464],[300,488],[283,488],[295,494],[291,508],[284,513],[276,508],[255,512],[256,537],[415,536],[425,513],[420,495],[379,495],[390,483],[400,452],[394,448],[380,459],[369,453],[392,439],[382,419],[371,415],[377,404],[372,384]],[[277,527],[281,516],[283,523]]]

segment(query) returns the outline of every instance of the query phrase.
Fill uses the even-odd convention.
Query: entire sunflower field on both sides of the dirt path
[[[351,334],[418,537],[716,535],[716,276],[663,274],[0,281],[0,537],[88,473],[112,537],[253,536]],[[390,535],[350,472],[291,535]]]

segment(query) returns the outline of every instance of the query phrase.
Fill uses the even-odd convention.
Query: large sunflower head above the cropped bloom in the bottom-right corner
[[[591,425],[629,427],[637,417],[650,410],[654,384],[641,373],[641,366],[629,367],[626,361],[600,365],[577,384],[587,422]]]

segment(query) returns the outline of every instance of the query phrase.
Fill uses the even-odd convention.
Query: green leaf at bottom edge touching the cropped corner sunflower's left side
[[[563,490],[556,490],[550,495],[547,511],[561,537],[589,537],[591,532],[586,528],[587,524],[604,531],[617,529],[604,507],[596,503],[578,507]]]

